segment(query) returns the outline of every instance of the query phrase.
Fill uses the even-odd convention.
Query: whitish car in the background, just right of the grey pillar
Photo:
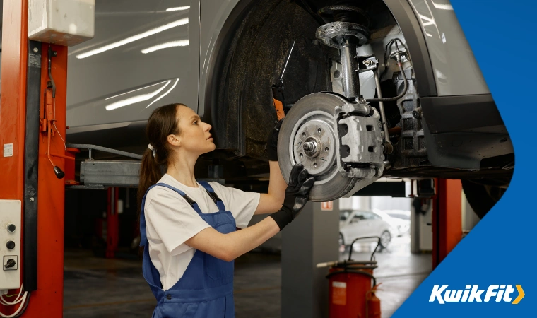
[[[352,245],[359,237],[370,237],[356,242],[378,242],[380,238],[379,247],[385,249],[397,233],[386,216],[383,218],[374,211],[341,210],[339,216],[339,245],[343,247]]]

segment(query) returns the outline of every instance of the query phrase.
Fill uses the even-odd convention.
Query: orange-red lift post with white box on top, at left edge
[[[74,159],[64,142],[66,45],[83,42],[92,35],[81,35],[84,30],[80,25],[71,34],[57,30],[64,28],[61,23],[80,18],[75,13],[79,10],[93,33],[94,8],[94,1],[43,1],[39,6],[26,0],[4,1],[0,103],[2,317],[62,315],[64,171],[66,166],[73,166]],[[34,20],[28,20],[29,11]],[[60,19],[59,14],[65,18]]]

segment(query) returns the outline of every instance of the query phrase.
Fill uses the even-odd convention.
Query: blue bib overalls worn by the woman
[[[221,233],[236,230],[235,218],[214,193],[207,182],[198,182],[211,196],[218,206],[218,212],[201,213],[198,204],[181,190],[169,184],[158,183],[151,186],[167,187],[180,194],[199,213],[203,220]],[[235,317],[235,302],[233,301],[233,264],[234,261],[217,259],[199,249],[194,253],[187,270],[182,278],[168,290],[163,290],[160,283],[160,274],[149,258],[149,245],[146,237],[146,218],[143,208],[146,204],[146,194],[142,199],[140,216],[140,246],[143,246],[143,278],[149,283],[151,291],[157,298],[157,307],[153,317]]]

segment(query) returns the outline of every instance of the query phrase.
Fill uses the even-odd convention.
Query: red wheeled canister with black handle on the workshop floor
[[[375,238],[377,247],[369,261],[353,261],[353,244],[357,240]],[[329,317],[330,318],[380,318],[380,300],[375,295],[377,279],[373,270],[377,268],[374,253],[380,246],[380,237],[358,237],[350,245],[348,260],[317,264],[330,266],[329,274]]]

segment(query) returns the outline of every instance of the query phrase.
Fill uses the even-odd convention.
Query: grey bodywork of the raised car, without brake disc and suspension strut
[[[449,1],[362,2],[372,36],[358,53],[380,59],[386,42],[397,37],[408,54],[411,88],[385,105],[389,126],[400,132],[384,175],[507,187],[512,143]],[[290,43],[297,40],[283,77],[289,105],[341,88],[334,78],[338,57],[315,38],[324,23],[317,12],[329,4],[97,0],[95,38],[69,49],[68,141],[141,153],[149,114],[182,102],[213,126],[217,149],[200,160],[197,175],[220,160],[226,179],[237,186],[263,179],[266,136],[276,119],[271,84]],[[383,89],[396,95],[401,76],[393,63],[382,67]],[[362,74],[362,95],[372,98],[372,75]],[[413,110],[423,115],[413,117]]]

